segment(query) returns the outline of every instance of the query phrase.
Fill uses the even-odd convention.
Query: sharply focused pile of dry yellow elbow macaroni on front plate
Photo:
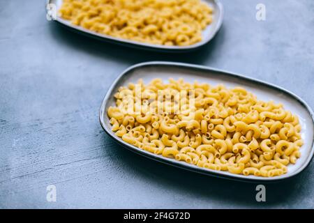
[[[192,93],[186,94],[188,100],[171,96],[182,91],[193,92],[193,103],[188,103]],[[160,93],[165,97],[156,96]],[[112,131],[151,153],[216,171],[265,177],[287,173],[287,165],[301,155],[299,118],[241,87],[183,79],[170,79],[169,84],[154,79],[145,85],[140,80],[120,87],[114,97],[117,106],[107,110]],[[132,111],[126,109],[129,102],[134,102]],[[156,105],[163,106],[156,110]]]

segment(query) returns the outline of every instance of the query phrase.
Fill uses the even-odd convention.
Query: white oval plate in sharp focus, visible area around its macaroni
[[[244,176],[231,174],[227,171],[214,171],[211,169],[205,169],[202,167],[197,167],[193,164],[188,164],[186,162],[180,162],[174,159],[163,157],[162,155],[156,155],[154,153],[149,153],[136,146],[126,143],[121,138],[117,137],[111,130],[110,119],[107,116],[107,108],[115,105],[114,104],[114,93],[117,92],[119,86],[127,86],[129,82],[137,82],[138,79],[142,78],[145,84],[148,84],[154,78],[161,78],[165,82],[168,81],[170,77],[173,79],[184,78],[186,82],[204,82],[212,85],[224,84],[228,88],[234,86],[242,86],[251,93],[257,95],[259,100],[269,101],[274,100],[274,102],[281,102],[285,109],[291,111],[293,114],[299,116],[299,121],[301,124],[301,137],[304,139],[304,145],[301,146],[301,157],[297,160],[296,164],[289,164],[287,174],[281,176],[275,176],[271,178],[265,178],[261,176]],[[131,66],[115,80],[110,89],[107,91],[103,104],[100,107],[100,124],[113,139],[115,139],[122,146],[130,149],[135,153],[144,155],[159,162],[166,164],[171,164],[175,167],[181,167],[183,169],[188,169],[190,171],[199,172],[202,174],[207,174],[211,176],[218,176],[222,178],[232,178],[234,180],[242,181],[264,181],[273,182],[276,180],[282,180],[285,178],[290,178],[296,174],[299,174],[308,164],[311,162],[314,153],[313,147],[313,134],[314,134],[314,119],[312,109],[290,91],[282,89],[274,84],[268,84],[256,79],[251,79],[249,77],[244,77],[241,75],[232,74],[230,72],[225,72],[222,70],[216,70],[213,68],[207,68],[204,66],[195,66],[186,63],[171,63],[171,62],[148,62],[140,63],[135,66]]]

